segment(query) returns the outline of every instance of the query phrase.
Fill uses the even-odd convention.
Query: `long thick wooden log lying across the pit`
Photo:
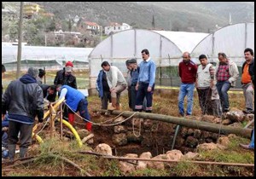
[[[103,110],[103,109],[95,110],[94,112],[104,112],[104,113],[108,112],[109,113],[108,110]],[[114,110],[111,112],[111,114],[113,114],[113,115],[119,115],[120,113],[122,113],[121,115],[124,116],[125,118],[128,118],[135,112],[128,112],[128,111],[122,112],[122,111],[117,111],[117,110]],[[199,121],[199,120],[195,120],[195,119],[177,118],[177,117],[167,116],[167,115],[158,114],[158,113],[142,113],[142,112],[140,112],[140,113],[136,113],[133,117],[158,120],[161,122],[177,124],[177,125],[181,125],[184,127],[197,129],[197,130],[206,130],[206,131],[218,133],[221,135],[235,134],[237,136],[251,138],[251,132],[252,132],[252,129],[244,129],[244,128],[227,126],[227,125],[223,125],[223,124],[208,123],[206,121]]]

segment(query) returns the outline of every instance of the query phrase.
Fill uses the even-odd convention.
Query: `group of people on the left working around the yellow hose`
[[[11,161],[15,159],[18,141],[20,141],[20,158],[25,157],[27,148],[32,143],[35,118],[38,118],[38,123],[44,121],[44,101],[54,102],[57,92],[58,100],[61,98],[66,100],[69,123],[73,124],[74,113],[79,111],[80,116],[86,121],[85,129],[91,130],[88,101],[86,96],[76,89],[76,78],[72,71],[73,63],[68,61],[63,70],[56,73],[54,84],[47,85],[42,84],[45,72],[29,67],[25,75],[10,82],[4,94],[2,85],[2,140],[4,139],[2,146],[8,146]],[[2,65],[2,78],[4,72],[6,72],[5,66]]]

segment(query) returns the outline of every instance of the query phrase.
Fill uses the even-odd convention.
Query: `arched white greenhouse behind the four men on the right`
[[[204,54],[210,61],[217,62],[218,52],[224,52],[237,66],[241,66],[246,48],[254,50],[254,23],[234,24],[213,32],[195,46],[191,55],[197,59]]]

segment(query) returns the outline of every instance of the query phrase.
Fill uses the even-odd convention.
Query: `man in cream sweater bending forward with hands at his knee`
[[[102,68],[107,74],[108,86],[111,93],[112,106],[109,110],[120,109],[120,95],[126,89],[127,83],[124,75],[116,66],[110,66],[108,61],[102,62]]]

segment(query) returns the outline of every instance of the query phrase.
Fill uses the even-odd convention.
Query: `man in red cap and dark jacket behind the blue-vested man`
[[[73,63],[71,61],[67,61],[65,67],[62,70],[58,71],[55,76],[54,84],[57,86],[58,84],[61,85],[68,85],[74,89],[78,89],[77,87],[77,80],[76,77],[72,74],[73,71]],[[64,107],[63,117],[67,120],[74,119],[74,113],[72,110],[68,110],[68,107]]]

